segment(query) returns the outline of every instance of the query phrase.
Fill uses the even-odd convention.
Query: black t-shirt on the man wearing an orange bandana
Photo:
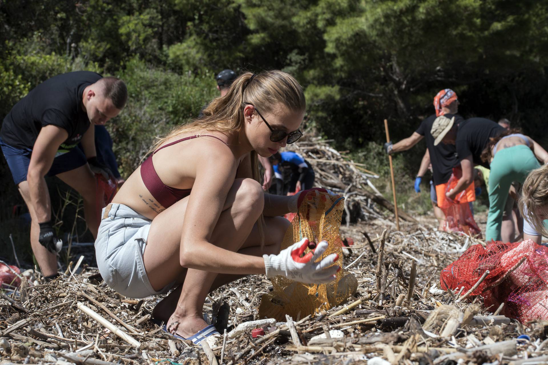
[[[459,124],[464,120],[458,114],[445,114],[449,119],[455,117],[455,124]],[[449,181],[451,173],[453,172],[453,167],[459,164],[459,161],[456,157],[456,149],[452,144],[439,143],[437,146],[434,146],[434,138],[431,134],[432,124],[436,120],[436,114],[430,115],[430,117],[423,120],[423,123],[420,124],[419,128],[415,131],[421,136],[424,136],[426,140],[426,147],[430,153],[430,162],[432,163],[433,171],[433,182],[435,185],[444,184]]]

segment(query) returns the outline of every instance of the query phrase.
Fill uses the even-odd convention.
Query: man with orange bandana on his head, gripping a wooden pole
[[[456,114],[459,111],[459,100],[456,97],[455,92],[451,89],[444,89],[438,92],[434,98],[434,107],[436,109],[436,114],[432,114],[430,117],[424,119],[419,128],[413,132],[411,136],[404,138],[396,144],[392,144],[391,142],[385,143],[385,150],[389,154],[408,150],[415,146],[415,144],[420,140],[426,138],[427,149],[423,157],[423,161],[421,162],[419,172],[415,178],[415,190],[420,192],[420,188],[418,188],[420,181],[426,173],[428,166],[432,164],[430,198],[432,200],[434,214],[439,222],[438,229],[443,229],[445,224],[445,216],[439,206],[441,206],[444,197],[437,194],[436,186],[442,186],[442,184],[447,183],[449,177],[451,176],[453,167],[458,165],[458,160],[456,158],[454,146],[434,146],[434,138],[430,134],[430,130],[437,115],[445,114],[450,115],[450,117],[455,116],[457,120],[464,119],[460,117],[460,115]]]

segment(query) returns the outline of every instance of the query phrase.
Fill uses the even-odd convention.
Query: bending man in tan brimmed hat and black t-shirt
[[[489,143],[489,138],[504,131],[504,128],[486,118],[470,118],[457,124],[454,119],[438,118],[432,125],[431,134],[435,137],[434,146],[440,142],[456,147],[458,161],[463,176],[456,186],[447,192],[447,197],[453,199],[473,182],[473,167],[481,165],[489,168],[489,164],[481,160],[481,153]]]

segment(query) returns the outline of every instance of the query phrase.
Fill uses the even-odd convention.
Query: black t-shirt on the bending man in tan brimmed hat
[[[460,123],[456,131],[456,153],[459,162],[472,155],[474,165],[489,169],[489,163],[481,160],[481,153],[489,143],[489,138],[503,131],[503,127],[486,118],[470,118]]]

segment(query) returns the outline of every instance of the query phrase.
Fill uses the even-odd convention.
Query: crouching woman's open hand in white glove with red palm
[[[340,266],[333,263],[339,259],[339,255],[332,253],[316,263],[315,261],[327,250],[328,244],[321,241],[313,253],[309,252],[300,257],[308,246],[309,240],[305,237],[277,255],[262,255],[265,260],[266,277],[283,275],[288,279],[309,284],[327,283],[335,279]]]

